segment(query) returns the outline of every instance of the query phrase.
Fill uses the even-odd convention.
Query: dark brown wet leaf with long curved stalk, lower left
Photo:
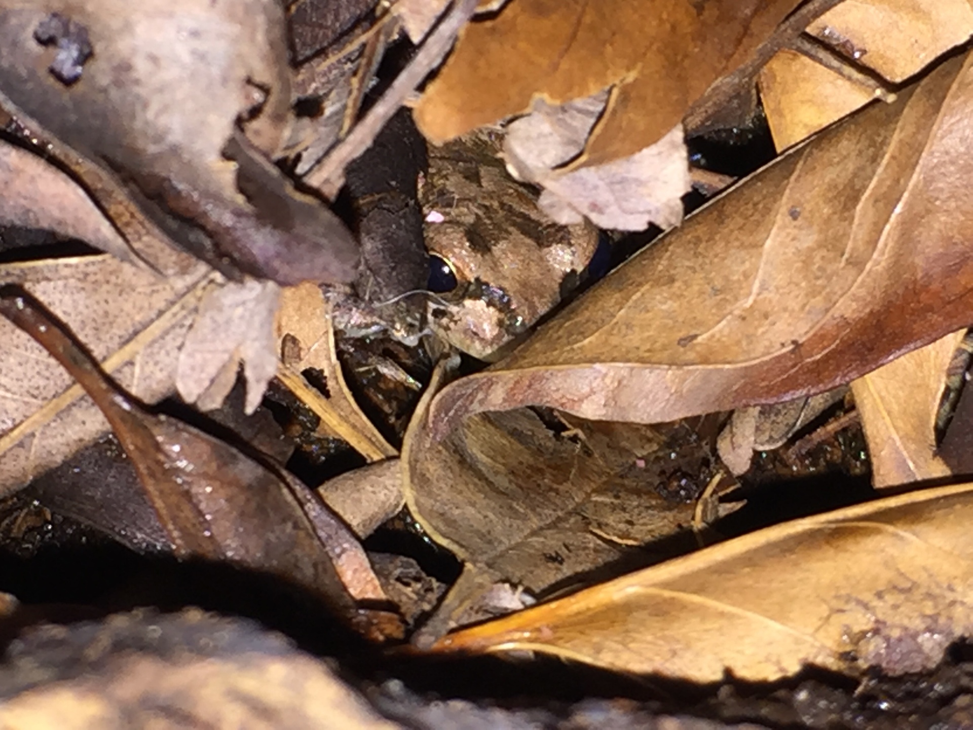
[[[371,638],[395,636],[391,614],[356,606],[353,597],[384,599],[378,579],[354,535],[304,485],[192,426],[143,411],[23,289],[0,289],[0,313],[45,347],[111,423],[177,557],[293,581]]]

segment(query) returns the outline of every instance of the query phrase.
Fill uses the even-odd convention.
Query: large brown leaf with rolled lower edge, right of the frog
[[[973,69],[822,132],[606,276],[416,427],[542,404],[658,422],[847,383],[968,323]]]

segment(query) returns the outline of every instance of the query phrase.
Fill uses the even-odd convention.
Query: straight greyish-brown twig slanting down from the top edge
[[[477,0],[453,2],[450,11],[429,35],[409,65],[392,82],[388,91],[378,99],[361,122],[306,174],[304,181],[307,185],[317,188],[329,200],[338,195],[344,185],[344,168],[372,145],[378,131],[399,110],[406,97],[439,65],[452,47],[456,34],[472,18],[476,9]]]

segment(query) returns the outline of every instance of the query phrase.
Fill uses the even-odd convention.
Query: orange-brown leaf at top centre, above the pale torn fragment
[[[517,0],[462,32],[415,108],[442,143],[530,110],[614,87],[584,164],[630,157],[675,127],[718,77],[747,61],[797,3]]]

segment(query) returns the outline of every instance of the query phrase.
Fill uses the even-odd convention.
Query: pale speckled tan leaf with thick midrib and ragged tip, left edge
[[[162,278],[103,255],[5,264],[0,281],[20,283],[48,302],[104,370],[143,402],[161,400],[180,379],[208,384],[210,369],[229,373],[233,385],[242,355],[248,398],[259,403],[267,384],[260,363],[270,362],[271,374],[276,368],[273,302],[260,303],[269,322],[262,340],[259,311],[251,306],[255,319],[241,327],[240,314],[247,312],[220,309],[218,274],[198,262],[181,268],[186,273]],[[255,285],[263,290],[268,284]],[[209,336],[200,338],[207,327]],[[0,493],[11,493],[106,433],[108,423],[54,360],[6,320],[0,320],[0,338],[6,343],[0,351]]]

